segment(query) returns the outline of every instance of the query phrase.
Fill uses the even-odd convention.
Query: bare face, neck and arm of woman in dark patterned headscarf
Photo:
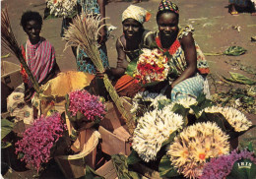
[[[178,17],[174,13],[163,13],[157,20],[160,30],[160,42],[163,48],[169,48],[175,41],[178,34]],[[184,50],[187,68],[181,75],[171,84],[170,88],[173,89],[178,83],[192,77],[197,69],[197,54],[192,33],[184,35],[180,39],[180,44]]]

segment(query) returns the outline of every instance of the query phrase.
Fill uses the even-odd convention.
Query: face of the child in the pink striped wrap
[[[25,32],[31,40],[36,40],[40,37],[41,25],[36,21],[29,21],[25,27]]]

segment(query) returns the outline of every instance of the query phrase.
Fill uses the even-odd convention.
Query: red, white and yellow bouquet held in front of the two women
[[[163,55],[160,49],[142,49],[137,62],[137,69],[134,77],[142,85],[155,84],[164,81],[168,75],[169,66],[167,57]]]

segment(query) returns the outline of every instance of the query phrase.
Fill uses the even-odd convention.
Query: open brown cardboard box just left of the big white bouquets
[[[98,132],[101,135],[101,149],[103,152],[109,155],[118,153],[129,155],[131,153],[131,136],[125,128],[125,126],[120,126],[110,132],[99,126]]]

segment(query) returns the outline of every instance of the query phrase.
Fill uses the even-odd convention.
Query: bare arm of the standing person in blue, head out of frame
[[[99,13],[101,16],[101,19],[105,18],[105,0],[96,0],[98,6],[99,6]],[[105,20],[101,21],[100,26],[105,25]],[[99,30],[99,37],[98,37],[98,43],[101,44],[106,41],[106,27],[102,27]]]

